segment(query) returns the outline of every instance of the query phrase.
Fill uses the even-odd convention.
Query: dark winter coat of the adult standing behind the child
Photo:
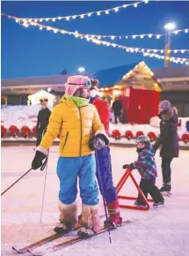
[[[159,115],[160,122],[160,135],[154,145],[155,150],[162,146],[160,156],[178,157],[178,109],[171,108],[162,112]]]

